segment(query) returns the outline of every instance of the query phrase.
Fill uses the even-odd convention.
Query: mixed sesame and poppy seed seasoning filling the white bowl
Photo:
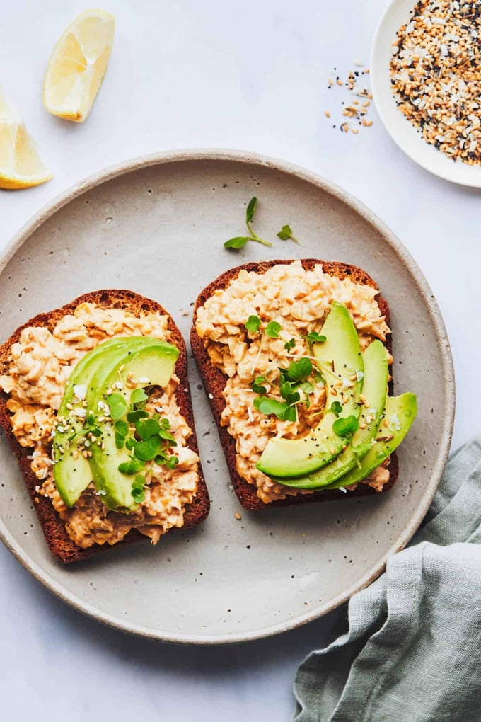
[[[392,45],[400,111],[453,160],[481,162],[481,0],[420,0]]]

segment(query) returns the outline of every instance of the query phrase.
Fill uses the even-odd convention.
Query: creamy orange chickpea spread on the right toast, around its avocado
[[[306,335],[320,331],[334,300],[348,308],[361,349],[366,349],[374,339],[384,342],[389,328],[376,303],[377,294],[369,285],[324,273],[322,264],[305,270],[301,261],[294,261],[272,266],[265,273],[243,269],[226,288],[216,290],[198,308],[197,334],[213,364],[228,377],[221,424],[236,441],[237,472],[257,487],[257,496],[264,503],[312,493],[278,484],[255,465],[271,438],[278,435],[298,438],[317,425],[319,412],[325,406],[325,387],[317,383],[309,396],[309,408],[300,404],[296,420],[288,421],[255,409],[252,382],[259,375],[269,378],[269,373],[275,373],[278,367],[309,356]],[[278,323],[279,337],[263,334],[261,338],[259,334],[248,333],[244,324],[250,316],[258,316],[263,324]],[[286,342],[291,342],[288,348]],[[268,393],[282,401],[278,386],[268,385]],[[382,491],[388,481],[389,470],[381,466],[363,483]]]

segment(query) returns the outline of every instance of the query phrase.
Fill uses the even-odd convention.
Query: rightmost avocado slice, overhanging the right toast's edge
[[[397,449],[410,430],[417,413],[418,404],[415,393],[402,393],[401,396],[388,397],[384,411],[384,421],[387,422],[387,427],[384,426],[384,423],[380,427],[377,435],[379,440],[366,453],[366,456],[361,461],[361,466],[356,466],[344,477],[326,488],[339,489],[340,487],[348,487],[366,479],[368,474],[371,474],[371,471],[381,466],[389,454],[392,454]],[[390,436],[392,436],[392,439],[389,439],[389,441],[381,440]]]

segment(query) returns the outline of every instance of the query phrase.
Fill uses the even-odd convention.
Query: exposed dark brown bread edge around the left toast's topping
[[[141,312],[157,312],[168,318],[169,331],[172,333],[171,343],[174,344],[180,351],[179,357],[175,365],[175,373],[180,378],[180,384],[177,386],[176,396],[177,402],[180,407],[180,412],[187,421],[187,424],[192,429],[193,434],[187,440],[187,445],[198,453],[197,439],[195,437],[195,426],[194,417],[192,410],[192,403],[190,400],[189,384],[187,381],[187,352],[185,348],[185,342],[180,333],[179,329],[172,321],[171,316],[167,311],[155,301],[148,298],[144,298],[132,291],[128,290],[101,290],[86,293],[79,298],[74,299],[71,303],[57,308],[56,310],[50,311],[50,313],[40,313],[35,318],[31,318],[30,321],[20,326],[14,334],[10,336],[7,341],[0,346],[0,375],[9,373],[9,362],[10,362],[10,348],[12,344],[19,340],[22,329],[28,326],[46,326],[50,331],[53,330],[56,323],[60,321],[63,316],[69,313],[73,313],[76,306],[80,303],[94,303],[102,308],[121,308],[123,310],[133,313],[134,316],[138,316]],[[4,430],[4,435],[8,440],[12,451],[17,457],[20,469],[27,484],[27,489],[32,498],[32,503],[37,512],[40,524],[45,535],[45,541],[47,541],[50,552],[54,554],[62,562],[76,562],[87,557],[91,557],[92,554],[105,551],[105,549],[111,549],[110,544],[94,544],[89,549],[81,549],[77,547],[74,541],[72,541],[66,532],[65,525],[61,520],[60,516],[54,510],[52,503],[49,499],[35,492],[35,486],[41,484],[38,481],[35,474],[30,469],[30,460],[27,456],[30,455],[31,449],[24,448],[19,445],[17,439],[14,437],[12,432],[12,425],[10,423],[10,414],[6,409],[6,401],[9,396],[6,393],[0,391],[0,425]],[[209,513],[210,500],[208,496],[208,490],[206,482],[203,477],[202,468],[199,464],[199,481],[197,495],[192,503],[187,505],[185,509],[184,526],[182,529],[189,529],[191,526],[203,521]],[[170,530],[169,530],[170,531]],[[146,536],[141,534],[136,529],[132,529],[123,541],[119,541],[118,544],[113,546],[118,547],[123,544],[131,544],[133,541],[145,540]]]

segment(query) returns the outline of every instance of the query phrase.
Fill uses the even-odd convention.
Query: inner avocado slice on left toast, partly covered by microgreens
[[[143,338],[143,337],[140,337]],[[125,339],[123,349],[112,355],[108,362],[97,369],[87,392],[88,407],[97,413],[99,401],[109,399],[107,390],[115,384],[121,386],[120,393],[127,406],[131,404],[133,388],[125,382],[131,374],[136,379],[136,388],[144,386],[167,386],[175,369],[179,351],[175,346],[157,339],[144,339],[140,346],[129,344]],[[154,343],[152,343],[154,341]],[[94,483],[102,494],[102,502],[113,510],[134,510],[137,507],[132,497],[133,477],[119,471],[119,464],[128,461],[130,453],[126,448],[115,445],[113,422],[99,424],[102,435],[99,437],[103,448],[97,443],[90,446],[92,457],[89,459]]]

